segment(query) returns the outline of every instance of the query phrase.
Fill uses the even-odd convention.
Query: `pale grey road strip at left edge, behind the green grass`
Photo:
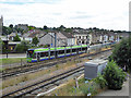
[[[7,58],[7,54],[0,54],[0,59]],[[8,58],[26,58],[26,53],[9,53]]]

